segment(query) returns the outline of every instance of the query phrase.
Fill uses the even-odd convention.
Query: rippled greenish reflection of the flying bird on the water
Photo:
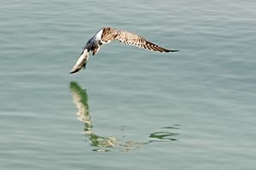
[[[73,102],[78,108],[77,118],[80,122],[84,122],[84,133],[87,141],[94,148],[93,151],[106,152],[111,149],[119,149],[127,152],[129,150],[137,150],[144,144],[152,142],[166,142],[177,140],[175,137],[178,133],[168,131],[159,131],[149,134],[150,140],[146,142],[122,141],[113,136],[100,136],[93,133],[93,125],[90,120],[90,110],[88,105],[88,95],[86,90],[81,88],[77,82],[70,82],[70,91],[73,95]],[[172,127],[162,127],[163,129],[178,129],[178,125]]]

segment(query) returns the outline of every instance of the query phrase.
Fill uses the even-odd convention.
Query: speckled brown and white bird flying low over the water
[[[89,53],[92,52],[92,55],[96,55],[102,45],[112,42],[113,40],[119,40],[119,42],[136,46],[137,48],[145,48],[157,52],[177,52],[176,49],[166,49],[162,48],[159,45],[149,42],[142,36],[139,36],[130,31],[123,31],[115,29],[112,27],[103,27],[101,30],[97,31],[95,36],[91,37],[88,42],[86,42],[82,53],[79,56],[76,64],[73,66],[70,71],[71,74],[80,71],[82,68],[85,68],[88,60]]]

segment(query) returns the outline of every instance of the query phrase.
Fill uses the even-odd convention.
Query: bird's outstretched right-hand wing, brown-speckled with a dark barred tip
[[[178,50],[171,50],[162,48],[157,44],[154,44],[153,42],[148,42],[144,37],[141,37],[137,34],[131,33],[129,31],[118,31],[118,36],[115,37],[115,39],[119,40],[120,42],[123,42],[125,44],[133,45],[138,48],[145,48],[149,50],[154,50],[158,52],[176,52]]]

